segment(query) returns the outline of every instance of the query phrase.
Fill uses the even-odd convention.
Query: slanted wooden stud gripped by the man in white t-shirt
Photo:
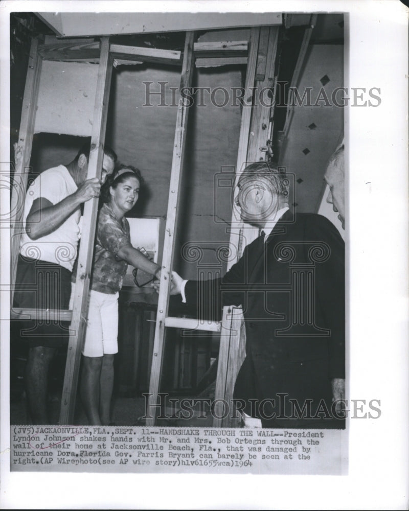
[[[109,54],[109,38],[101,40],[101,56],[98,69],[97,89],[95,94],[94,119],[91,137],[87,178],[101,177],[108,99],[112,76],[113,58]],[[81,243],[78,254],[77,282],[74,288],[73,319],[67,360],[65,364],[64,385],[62,389],[60,424],[72,424],[74,418],[75,398],[81,351],[85,338],[85,317],[87,314],[87,295],[94,252],[94,238],[97,220],[98,198],[84,204],[84,218]]]

